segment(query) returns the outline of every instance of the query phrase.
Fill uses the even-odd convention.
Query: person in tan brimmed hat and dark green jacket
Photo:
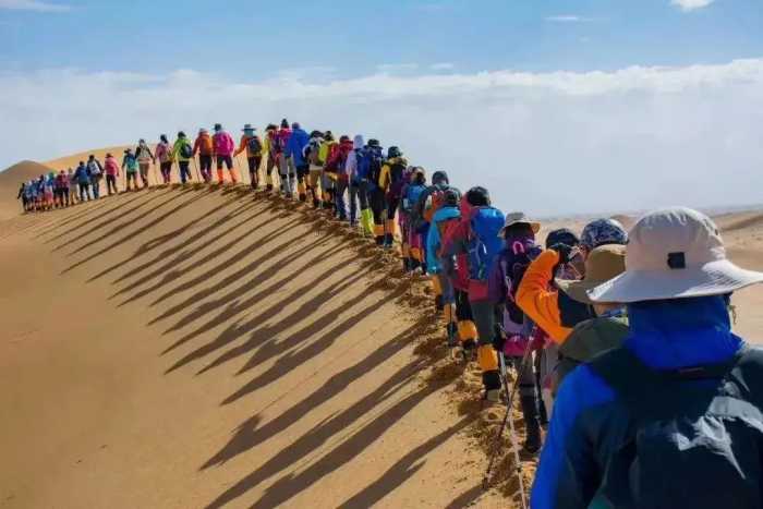
[[[562,259],[568,254],[562,255]],[[554,396],[567,375],[579,364],[591,361],[607,350],[621,347],[628,335],[628,316],[621,303],[595,303],[588,294],[626,270],[626,246],[606,244],[589,252],[582,280],[557,279],[557,288],[570,299],[593,307],[595,317],[581,322],[559,347],[559,364],[555,369]]]

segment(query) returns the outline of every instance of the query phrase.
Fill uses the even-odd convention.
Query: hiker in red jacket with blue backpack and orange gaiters
[[[441,175],[439,179],[445,179],[440,181],[447,182],[447,175]],[[433,182],[435,181],[433,178]],[[425,192],[419,198],[420,210],[422,209],[422,201],[433,202],[432,208],[435,208],[438,196],[441,196],[444,192],[443,189],[447,187],[434,191],[429,187],[427,191],[431,192],[432,199],[426,198]],[[498,234],[504,228],[505,217],[500,210],[491,206],[489,193],[484,187],[470,189],[465,197],[472,209],[468,216],[461,217],[456,230],[449,232],[443,251],[451,256],[467,255],[462,259],[465,260],[469,271],[469,304],[477,329],[476,356],[482,369],[482,383],[485,390],[483,399],[488,403],[496,403],[500,400],[501,383],[498,355],[493,348],[496,334],[496,310],[488,295],[488,277],[502,247]],[[471,354],[471,351],[464,351],[465,357],[470,357]]]

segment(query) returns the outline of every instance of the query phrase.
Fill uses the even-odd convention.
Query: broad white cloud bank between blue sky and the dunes
[[[56,84],[56,86],[50,86]],[[760,202],[763,59],[586,73],[377,73],[235,83],[50,70],[0,74],[0,168],[283,117],[364,133],[536,215]]]

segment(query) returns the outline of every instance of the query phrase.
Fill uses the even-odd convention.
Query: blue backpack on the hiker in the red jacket
[[[487,281],[493,262],[502,247],[498,232],[504,213],[494,207],[477,207],[469,221],[469,279]]]

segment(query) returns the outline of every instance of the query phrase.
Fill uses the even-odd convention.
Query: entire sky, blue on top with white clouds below
[[[0,0],[0,168],[287,117],[507,211],[758,204],[761,26],[760,0]]]

